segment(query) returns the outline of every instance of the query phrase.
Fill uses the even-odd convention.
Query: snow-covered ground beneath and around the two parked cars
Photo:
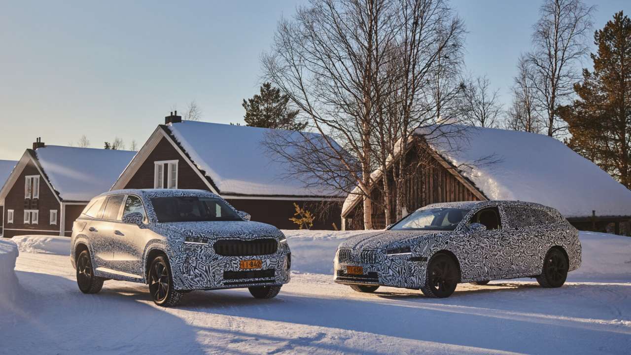
[[[15,268],[20,299],[0,301],[0,354],[628,354],[631,349],[631,238],[582,232],[583,265],[560,289],[503,280],[459,285],[451,298],[428,299],[420,291],[390,287],[360,294],[331,282],[335,247],[351,232],[286,233],[297,272],[277,298],[257,300],[247,290],[199,291],[170,309],[155,306],[141,284],[109,281],[99,294],[81,294],[68,256],[31,240],[41,238],[23,238]],[[25,244],[37,245],[31,250],[38,253],[24,252]],[[3,245],[0,263],[16,253],[7,247],[3,254]]]

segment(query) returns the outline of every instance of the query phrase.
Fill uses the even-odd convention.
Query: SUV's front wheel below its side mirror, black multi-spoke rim
[[[158,255],[149,267],[149,292],[153,303],[158,306],[172,307],[182,301],[183,292],[177,291],[173,285],[171,267],[167,256]]]

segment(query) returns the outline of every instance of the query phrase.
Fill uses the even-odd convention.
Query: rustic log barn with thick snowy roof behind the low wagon
[[[417,129],[409,147],[391,160],[405,159],[410,167],[404,212],[438,202],[521,200],[557,208],[581,230],[613,226],[611,232],[620,234],[623,224],[628,234],[631,191],[555,138],[451,125],[431,132]],[[375,184],[382,184],[380,171],[372,175]],[[386,176],[394,189],[391,170]],[[382,202],[380,189],[373,188],[370,198]],[[394,215],[394,201],[392,206]],[[372,218],[375,228],[386,226],[378,203]],[[342,219],[345,229],[363,228],[361,195],[346,198]]]

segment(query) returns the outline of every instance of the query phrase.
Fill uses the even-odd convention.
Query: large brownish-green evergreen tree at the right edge
[[[560,114],[569,147],[631,188],[631,19],[620,11],[594,34],[594,71],[574,85],[579,99]]]

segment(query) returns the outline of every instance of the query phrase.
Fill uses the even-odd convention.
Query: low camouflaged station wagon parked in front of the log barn
[[[347,239],[335,256],[334,280],[359,292],[383,285],[444,298],[459,282],[536,277],[543,287],[560,287],[579,265],[579,233],[557,210],[526,202],[453,202]]]

